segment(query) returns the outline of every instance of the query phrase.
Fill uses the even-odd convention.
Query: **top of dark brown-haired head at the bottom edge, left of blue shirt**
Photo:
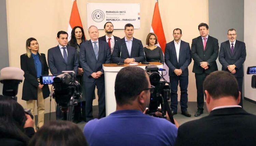
[[[69,121],[50,121],[30,140],[29,146],[87,146],[79,127]]]

